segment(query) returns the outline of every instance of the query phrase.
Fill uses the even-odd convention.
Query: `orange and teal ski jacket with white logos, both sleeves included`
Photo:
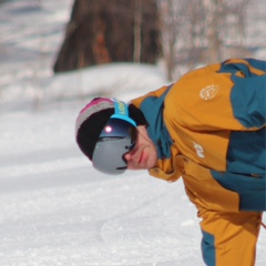
[[[197,69],[132,103],[157,147],[150,174],[182,176],[198,209],[205,264],[255,265],[266,209],[266,62],[232,59]]]

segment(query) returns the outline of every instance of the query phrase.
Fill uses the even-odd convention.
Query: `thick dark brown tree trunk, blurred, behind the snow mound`
[[[155,63],[160,55],[155,0],[75,0],[53,70],[109,62]]]

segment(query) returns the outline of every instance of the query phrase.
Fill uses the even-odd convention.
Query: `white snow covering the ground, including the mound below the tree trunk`
[[[79,151],[74,121],[89,99],[108,93],[127,101],[166,80],[160,68],[143,64],[54,76],[71,4],[1,4],[0,265],[204,265],[200,221],[182,181],[168,184],[142,171],[106,176]],[[257,266],[265,254],[262,228]]]

